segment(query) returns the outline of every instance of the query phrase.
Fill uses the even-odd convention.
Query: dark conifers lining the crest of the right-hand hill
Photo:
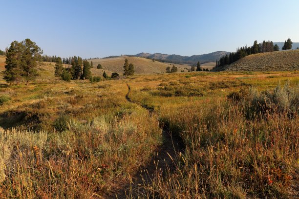
[[[288,39],[285,41],[284,46],[282,47],[282,50],[289,50],[292,48],[292,41]],[[263,41],[262,43],[257,43],[257,40],[255,40],[253,46],[244,46],[241,48],[238,48],[236,52],[230,53],[229,55],[225,55],[220,60],[216,60],[216,68],[224,66],[226,64],[231,64],[237,60],[240,60],[241,58],[244,58],[251,54],[256,53],[266,53],[266,52],[272,52],[272,51],[279,51],[279,47],[277,44],[273,45],[273,41]]]

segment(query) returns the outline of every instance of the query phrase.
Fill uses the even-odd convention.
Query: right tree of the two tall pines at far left
[[[22,41],[22,44],[24,46],[24,52],[22,54],[21,64],[24,71],[23,78],[28,87],[29,81],[35,80],[39,75],[37,65],[43,50],[29,39]]]

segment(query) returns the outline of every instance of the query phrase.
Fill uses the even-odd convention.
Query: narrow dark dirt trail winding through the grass
[[[149,111],[149,114],[151,114],[153,112],[152,108],[148,108],[147,106],[140,104],[139,102],[132,101],[129,98],[130,86],[128,84],[127,86],[128,93],[126,95],[126,99],[131,103],[136,103],[142,106]],[[163,136],[162,146],[157,148],[148,164],[139,168],[139,170],[131,177],[131,182],[123,182],[122,184],[119,183],[117,186],[113,187],[114,193],[111,193],[108,197],[112,198],[113,195],[114,198],[117,199],[126,199],[126,193],[128,195],[130,187],[132,189],[138,189],[139,192],[143,192],[143,185],[151,183],[151,179],[154,177],[157,170],[163,175],[163,172],[167,168],[170,170],[174,168],[174,162],[172,159],[176,159],[177,154],[184,151],[184,144],[179,136],[171,135],[167,126],[163,125],[161,128]]]

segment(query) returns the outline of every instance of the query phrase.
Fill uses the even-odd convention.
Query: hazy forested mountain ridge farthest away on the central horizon
[[[203,55],[192,55],[192,56],[180,56],[180,55],[167,55],[167,54],[161,54],[161,53],[139,53],[134,55],[135,57],[144,57],[149,59],[155,59],[155,60],[163,60],[163,61],[171,61],[176,63],[187,63],[187,64],[196,64],[197,61],[200,61],[201,63],[207,63],[207,62],[216,62],[216,60],[219,60],[222,56],[228,55],[230,52],[227,51],[216,51],[213,53],[203,54]]]

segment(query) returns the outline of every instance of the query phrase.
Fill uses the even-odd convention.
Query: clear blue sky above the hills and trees
[[[199,55],[254,40],[299,41],[298,0],[1,0],[0,49],[29,38],[44,54]]]

